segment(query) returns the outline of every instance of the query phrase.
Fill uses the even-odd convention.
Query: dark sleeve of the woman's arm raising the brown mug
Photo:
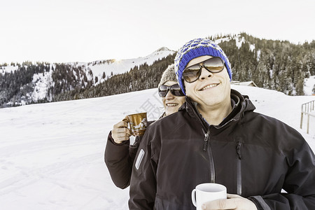
[[[124,141],[123,144],[116,144],[113,141],[113,137],[111,137],[111,132],[109,132],[104,160],[113,183],[122,189],[130,185],[132,173],[132,158],[130,157],[129,144],[130,141]]]

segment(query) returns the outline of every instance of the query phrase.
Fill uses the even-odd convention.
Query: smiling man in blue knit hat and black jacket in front
[[[210,182],[226,186],[228,199],[203,209],[315,209],[314,153],[292,127],[254,113],[248,97],[230,89],[223,50],[197,38],[175,65],[186,103],[146,130],[130,209],[195,209],[191,191]]]

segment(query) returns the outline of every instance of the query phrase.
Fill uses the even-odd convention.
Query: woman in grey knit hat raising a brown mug
[[[174,64],[169,65],[162,74],[158,93],[165,109],[165,113],[160,118],[175,113],[185,102],[185,96],[177,83]],[[148,122],[149,125],[151,123],[153,121]],[[127,127],[127,123],[123,120],[113,125],[105,150],[105,163],[109,169],[109,174],[111,174],[111,179],[118,188],[122,189],[130,185],[132,164],[142,139],[142,137],[136,137],[134,144],[130,145],[131,133]]]

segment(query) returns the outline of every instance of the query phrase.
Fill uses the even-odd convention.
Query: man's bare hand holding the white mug
[[[202,210],[219,209],[257,210],[257,207],[251,200],[233,194],[228,194],[228,199],[226,200],[214,200],[202,204]]]

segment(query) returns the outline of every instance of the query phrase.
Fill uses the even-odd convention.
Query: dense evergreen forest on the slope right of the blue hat
[[[315,41],[295,45],[241,34],[246,43],[237,48],[233,39],[220,44],[232,65],[233,80],[253,80],[258,87],[302,95],[304,78],[315,75]],[[210,37],[213,38],[213,37]],[[250,44],[255,50],[250,50]]]

